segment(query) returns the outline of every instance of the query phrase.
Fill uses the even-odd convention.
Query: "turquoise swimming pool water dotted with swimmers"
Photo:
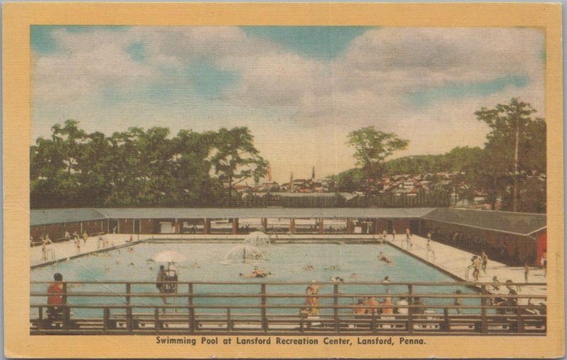
[[[262,248],[267,257],[266,262],[258,264],[271,272],[271,277],[264,279],[239,277],[240,273],[249,273],[254,268],[252,264],[224,264],[225,255],[237,243],[142,243],[135,245],[128,251],[126,248],[111,250],[106,254],[79,257],[70,262],[61,262],[57,266],[46,266],[31,271],[31,281],[50,281],[55,272],[60,272],[66,281],[155,281],[159,270],[159,263],[150,261],[152,255],[162,250],[174,250],[186,257],[184,262],[177,264],[179,281],[237,281],[252,282],[252,285],[194,285],[195,293],[250,293],[260,291],[260,283],[265,281],[329,281],[330,277],[342,277],[344,283],[339,291],[344,294],[376,294],[378,301],[383,300],[387,289],[392,293],[392,301],[398,298],[395,294],[407,293],[407,286],[383,285],[349,285],[354,281],[382,281],[388,276],[391,282],[454,282],[454,279],[437,269],[425,265],[414,257],[389,245],[378,244],[281,244],[269,245]],[[379,252],[392,258],[391,265],[377,260]],[[198,264],[198,268],[193,265]],[[313,270],[306,271],[305,265],[313,266]],[[329,269],[335,267],[335,269]],[[327,268],[327,269],[326,269]],[[356,274],[353,279],[352,274]],[[254,283],[258,283],[257,285]],[[32,284],[34,292],[45,291],[47,284]],[[460,289],[464,294],[473,291],[461,284],[455,286],[414,286],[414,294],[451,294]],[[92,284],[70,289],[70,293],[78,292],[104,292],[124,293],[125,286],[118,284]],[[157,293],[154,284],[134,284],[133,292]],[[180,285],[179,292],[187,289]],[[268,293],[295,293],[305,294],[305,285],[267,285]],[[333,286],[325,285],[319,294],[332,294]],[[453,299],[422,298],[427,305],[452,305]],[[43,296],[33,297],[31,303],[45,303]],[[340,304],[354,304],[356,298],[342,298]],[[119,296],[84,298],[69,296],[68,302],[75,305],[86,304],[124,304],[125,298]],[[170,299],[170,303],[178,305],[187,303],[184,298]],[[268,305],[302,305],[301,298],[268,298]],[[161,298],[132,298],[133,304],[161,305]],[[196,305],[247,305],[259,304],[258,298],[195,298]],[[463,299],[463,305],[478,305],[477,299]],[[320,298],[320,305],[332,305],[332,298]],[[122,310],[123,311],[123,310]],[[142,309],[140,309],[142,311]],[[145,309],[144,311],[150,311]],[[221,309],[203,309],[203,313],[225,312]],[[258,310],[243,309],[232,310],[233,313],[255,313]],[[322,309],[322,313],[330,313],[330,309]],[[342,310],[350,313],[351,310]],[[441,312],[440,309],[434,310]],[[476,311],[476,310],[474,310]],[[463,313],[467,311],[464,310]],[[74,315],[102,315],[101,310],[74,309]],[[268,313],[298,313],[298,309],[269,309]]]

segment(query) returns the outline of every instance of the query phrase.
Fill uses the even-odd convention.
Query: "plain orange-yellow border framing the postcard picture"
[[[561,4],[6,3],[3,7],[4,332],[9,357],[558,357],[564,354]],[[541,27],[546,33],[548,325],[545,337],[422,337],[426,344],[164,347],[153,336],[29,335],[30,25]],[[225,337],[219,337],[221,339]],[[312,337],[313,338],[313,337]]]

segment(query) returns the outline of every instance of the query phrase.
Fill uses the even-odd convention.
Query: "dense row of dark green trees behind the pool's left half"
[[[230,206],[232,187],[266,174],[247,127],[130,127],[87,134],[75,120],[30,146],[30,206]]]

